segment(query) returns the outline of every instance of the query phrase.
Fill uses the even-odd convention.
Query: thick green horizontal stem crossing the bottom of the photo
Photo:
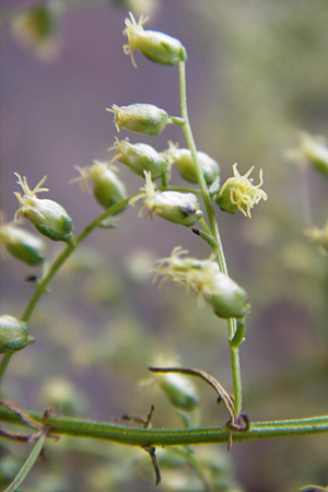
[[[28,415],[39,422],[43,415],[28,412]],[[0,420],[24,425],[12,412],[0,409]],[[136,429],[126,425],[116,425],[108,422],[94,422],[91,420],[71,417],[50,417],[47,425],[51,433],[74,437],[89,437],[105,440],[132,446],[148,447],[196,445],[208,443],[227,443],[229,431],[225,427],[203,427],[188,430]],[[271,437],[290,437],[306,434],[323,434],[328,432],[328,415],[309,419],[277,420],[271,422],[251,422],[247,432],[234,432],[234,442],[262,440]]]

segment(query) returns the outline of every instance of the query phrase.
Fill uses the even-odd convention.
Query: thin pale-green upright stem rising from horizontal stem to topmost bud
[[[215,214],[213,211],[213,207],[210,200],[209,190],[201,171],[201,166],[199,164],[197,157],[197,149],[195,144],[195,140],[192,137],[192,131],[188,118],[188,108],[187,108],[187,93],[186,93],[186,63],[185,61],[180,61],[179,65],[179,91],[180,91],[180,113],[181,118],[184,120],[183,129],[186,137],[187,144],[191,152],[192,162],[195,165],[198,184],[200,187],[201,196],[204,202],[204,207],[208,214],[209,227],[206,226],[204,221],[202,221],[202,225],[206,229],[207,233],[211,233],[218,246],[214,248],[218,263],[220,270],[227,276],[227,267],[224,257],[223,246],[220,237],[219,226],[215,219]],[[236,332],[236,320],[235,318],[230,318],[227,320],[229,327],[229,339],[232,340]],[[235,417],[238,417],[242,411],[242,377],[241,377],[241,362],[239,362],[239,350],[237,347],[230,347],[231,353],[231,364],[232,364],[232,375],[233,375],[233,386],[234,386],[234,407],[235,407]]]

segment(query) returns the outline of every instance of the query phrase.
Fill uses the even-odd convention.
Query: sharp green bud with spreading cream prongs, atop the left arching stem
[[[17,173],[14,174],[19,179],[17,184],[21,185],[24,191],[23,197],[14,191],[21,206],[15,213],[15,219],[22,213],[40,234],[49,239],[72,243],[73,223],[67,211],[56,201],[36,198],[37,192],[48,191],[47,188],[40,188],[47,176],[31,190],[26,177],[24,176],[22,179]]]

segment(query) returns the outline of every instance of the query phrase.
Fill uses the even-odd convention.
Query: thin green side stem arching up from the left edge
[[[96,229],[102,221],[104,221],[108,215],[114,215],[115,213],[120,212],[129,202],[129,200],[134,197],[134,195],[131,195],[130,197],[126,198],[125,200],[120,201],[119,203],[114,204],[113,207],[109,207],[106,209],[101,215],[98,215],[94,221],[92,221],[82,232],[79,234],[79,236],[75,237],[74,245],[73,246],[67,246],[61,254],[57,257],[57,259],[54,261],[54,263],[50,266],[49,270],[47,271],[46,276],[42,279],[42,281],[36,285],[36,290],[32,298],[30,300],[26,308],[24,309],[24,313],[21,317],[22,321],[27,321],[37,305],[40,296],[47,292],[49,282],[51,281],[52,277],[57,273],[57,271],[60,269],[60,267],[65,263],[65,261],[70,257],[70,255],[77,249],[77,247],[85,239],[89,234]],[[14,352],[13,352],[14,353]],[[0,364],[0,383],[2,380],[3,374],[8,367],[8,364],[11,360],[11,356],[13,353],[7,353],[3,355],[1,364]]]

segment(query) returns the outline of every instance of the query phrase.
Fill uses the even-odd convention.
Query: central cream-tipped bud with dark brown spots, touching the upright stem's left
[[[180,194],[177,191],[156,191],[152,183],[151,174],[144,172],[145,185],[140,188],[140,194],[130,200],[134,206],[136,201],[143,199],[143,206],[139,212],[142,215],[143,209],[148,209],[147,215],[155,213],[167,221],[191,227],[202,218],[199,202],[192,194]]]

